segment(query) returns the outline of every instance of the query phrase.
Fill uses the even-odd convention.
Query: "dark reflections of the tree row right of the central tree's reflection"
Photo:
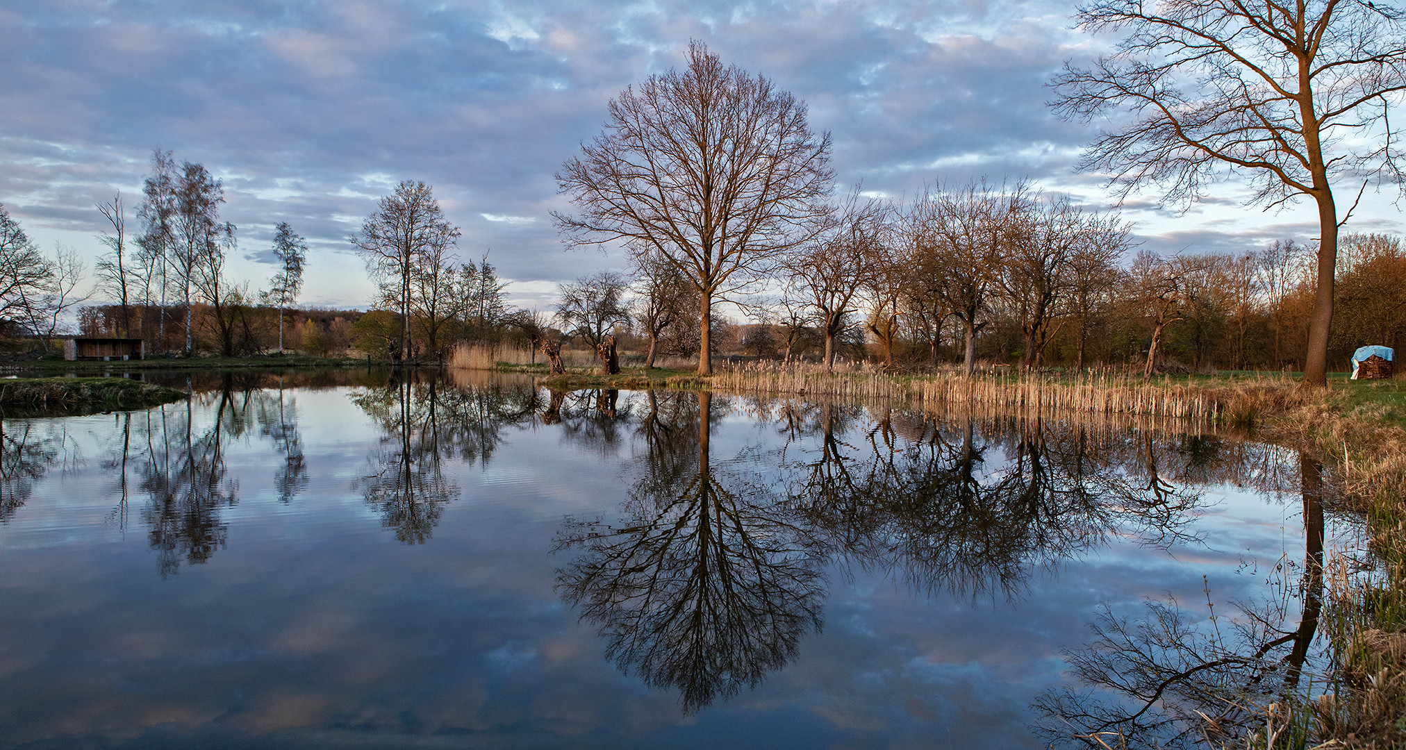
[[[1143,485],[1083,426],[1011,419],[986,424],[994,434],[983,440],[973,417],[886,412],[853,445],[837,435],[838,407],[818,409],[820,449],[800,462],[794,507],[837,553],[918,588],[1010,597],[1038,566],[1112,532],[1160,545],[1192,538],[1199,493],[1156,472]]]

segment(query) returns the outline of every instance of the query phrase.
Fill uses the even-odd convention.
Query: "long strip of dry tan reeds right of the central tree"
[[[727,365],[713,375],[717,389],[765,395],[830,396],[838,399],[904,399],[925,409],[981,409],[998,412],[1135,414],[1197,421],[1253,423],[1260,413],[1303,400],[1291,381],[1247,378],[1218,386],[1142,383],[1114,372],[1073,378],[956,371],[931,375],[886,375],[860,364],[827,371],[820,365],[748,362]]]

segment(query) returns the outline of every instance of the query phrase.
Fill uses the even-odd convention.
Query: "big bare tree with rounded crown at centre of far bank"
[[[702,298],[699,372],[713,371],[711,305],[815,232],[831,190],[830,135],[762,76],[699,42],[685,70],[650,76],[609,104],[605,132],[557,174],[578,213],[553,213],[571,246],[657,253]]]

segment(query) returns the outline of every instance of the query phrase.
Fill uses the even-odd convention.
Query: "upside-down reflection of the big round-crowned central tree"
[[[696,430],[679,430],[651,395],[627,520],[568,522],[558,537],[558,549],[581,552],[558,573],[562,597],[600,628],[609,659],[679,690],[686,711],[786,664],[820,628],[824,596],[807,535],[765,493],[713,469],[710,406],[700,393]]]

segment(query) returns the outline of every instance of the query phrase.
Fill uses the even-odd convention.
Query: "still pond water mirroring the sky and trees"
[[[4,420],[0,747],[1043,747],[1139,708],[1101,667],[1277,639],[1272,692],[1322,650],[1323,476],[1282,448],[488,375],[191,386]],[[1171,617],[1212,636],[1099,660]]]

